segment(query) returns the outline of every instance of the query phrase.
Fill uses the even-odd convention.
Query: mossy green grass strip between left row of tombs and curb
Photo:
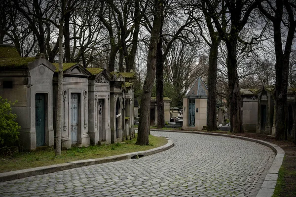
[[[164,137],[153,135],[149,135],[150,145],[148,146],[135,145],[136,141],[137,136],[132,140],[127,140],[121,143],[103,146],[73,147],[69,150],[63,150],[61,156],[58,157],[55,156],[55,151],[53,149],[15,153],[12,156],[6,157],[0,156],[0,173],[32,167],[62,164],[76,160],[103,158],[124,153],[145,151],[167,143],[167,139]]]

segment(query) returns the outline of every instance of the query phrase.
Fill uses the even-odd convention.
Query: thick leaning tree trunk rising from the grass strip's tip
[[[151,30],[151,38],[148,49],[147,58],[147,75],[143,86],[143,94],[141,97],[140,120],[138,128],[137,145],[149,144],[149,111],[150,99],[153,82],[155,79],[155,66],[156,66],[156,51],[159,30],[161,26],[161,13],[163,9],[162,0],[154,0],[155,12],[153,19],[153,26]]]

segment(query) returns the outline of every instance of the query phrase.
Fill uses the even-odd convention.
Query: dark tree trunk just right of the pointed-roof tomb
[[[217,60],[218,46],[220,41],[212,39],[210,47],[208,68],[208,100],[207,100],[207,126],[208,131],[217,131],[217,108],[216,108],[216,83],[217,83]]]

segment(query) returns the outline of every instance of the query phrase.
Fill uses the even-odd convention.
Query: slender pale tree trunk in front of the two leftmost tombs
[[[61,132],[62,132],[62,104],[63,104],[63,26],[65,13],[65,0],[61,2],[61,19],[59,26],[59,79],[58,79],[58,102],[57,102],[57,131],[55,155],[61,155]]]

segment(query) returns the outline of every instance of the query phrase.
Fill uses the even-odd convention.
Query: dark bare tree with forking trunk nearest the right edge
[[[259,9],[273,24],[275,49],[275,113],[277,140],[287,139],[287,90],[290,53],[296,31],[296,3],[289,0],[257,0]]]

